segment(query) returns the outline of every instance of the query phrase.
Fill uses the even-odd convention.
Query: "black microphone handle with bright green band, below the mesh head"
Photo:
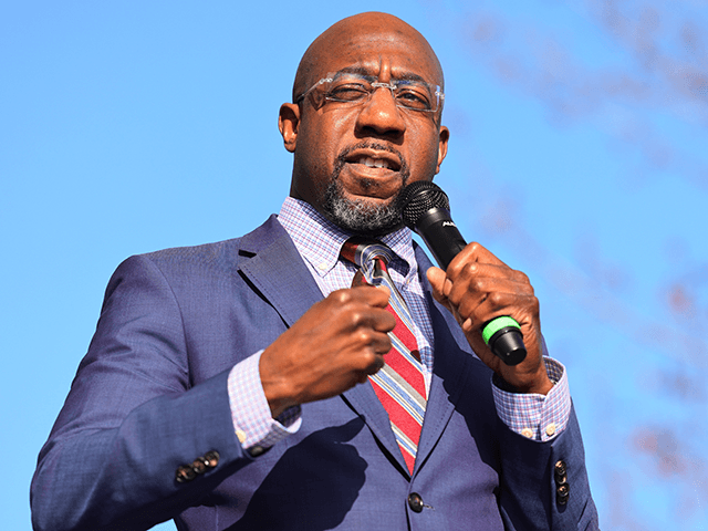
[[[444,208],[428,210],[416,223],[416,232],[442,269],[447,269],[467,246],[450,219],[450,212]],[[521,326],[512,317],[502,315],[486,322],[482,325],[482,339],[491,352],[507,365],[517,365],[527,357]]]

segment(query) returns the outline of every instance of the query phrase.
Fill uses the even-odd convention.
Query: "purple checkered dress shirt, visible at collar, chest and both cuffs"
[[[356,266],[340,260],[340,249],[351,235],[324,219],[304,201],[289,197],[278,220],[292,238],[323,295],[350,288]],[[433,372],[433,325],[418,280],[418,264],[413,251],[410,231],[400,229],[381,239],[396,257],[388,264],[394,283],[406,300],[416,326],[424,375],[429,391]],[[260,384],[258,362],[260,352],[235,365],[228,378],[231,419],[237,435],[242,435],[244,448],[268,448],[300,427],[300,408],[290,408],[273,420]],[[537,440],[550,439],[562,431],[570,416],[570,393],[563,366],[546,358],[549,376],[558,384],[548,396],[507,393],[492,385],[497,413],[514,431]],[[548,427],[554,426],[549,436]]]

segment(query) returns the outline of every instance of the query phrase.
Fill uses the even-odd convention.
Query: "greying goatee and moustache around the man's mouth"
[[[344,195],[344,188],[339,178],[346,164],[348,153],[365,147],[387,150],[398,156],[402,162],[399,169],[402,179],[400,190],[405,188],[410,173],[406,162],[396,149],[383,144],[357,144],[337,157],[330,184],[325,188],[322,197],[322,211],[330,221],[344,230],[362,236],[382,236],[402,226],[402,207],[398,201],[400,190],[385,205],[366,201],[364,199],[348,199]],[[364,186],[366,186],[366,181]]]

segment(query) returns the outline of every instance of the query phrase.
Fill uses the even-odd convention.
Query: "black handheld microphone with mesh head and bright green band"
[[[467,246],[450,217],[447,195],[431,181],[417,180],[400,191],[398,201],[403,222],[423,238],[440,268],[447,269]],[[517,365],[527,357],[521,326],[512,317],[504,315],[486,322],[482,339],[507,365]]]

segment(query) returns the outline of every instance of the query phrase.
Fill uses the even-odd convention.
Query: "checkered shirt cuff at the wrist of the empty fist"
[[[271,416],[258,366],[262,353],[237,363],[227,382],[236,437],[253,457],[298,431],[302,424],[300,406],[289,407],[277,418]]]

